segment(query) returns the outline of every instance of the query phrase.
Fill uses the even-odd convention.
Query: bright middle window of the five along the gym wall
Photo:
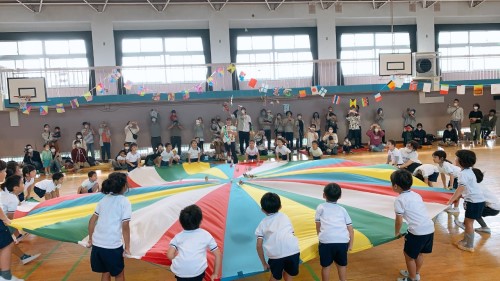
[[[295,79],[313,73],[309,35],[238,36],[236,63],[256,79]],[[301,62],[302,61],[302,62]]]

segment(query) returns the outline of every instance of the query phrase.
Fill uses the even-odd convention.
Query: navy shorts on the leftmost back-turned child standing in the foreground
[[[109,274],[113,277],[119,275],[125,268],[123,260],[123,247],[105,249],[92,246],[92,252],[90,253],[90,266],[94,272],[109,272]]]

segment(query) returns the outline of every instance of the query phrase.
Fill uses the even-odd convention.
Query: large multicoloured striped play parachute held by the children
[[[314,213],[324,202],[323,187],[336,182],[343,188],[340,204],[355,228],[353,252],[387,243],[394,237],[394,199],[388,165],[367,166],[341,159],[299,162],[184,164],[166,169],[140,168],[130,173],[135,186],[125,195],[133,207],[131,252],[133,257],[169,265],[169,241],[182,231],[182,208],[197,204],[203,210],[202,228],[208,230],[223,252],[222,280],[262,272],[255,251],[255,229],[264,218],[260,198],[275,192],[282,199],[281,212],[290,217],[300,243],[301,259],[317,257],[318,238]],[[155,184],[153,187],[145,185]],[[451,193],[425,187],[415,180],[431,216],[446,206]],[[87,223],[102,194],[69,196],[39,204],[13,226],[27,232],[77,243],[87,237]],[[213,256],[209,255],[209,269]],[[210,274],[209,274],[210,275]]]

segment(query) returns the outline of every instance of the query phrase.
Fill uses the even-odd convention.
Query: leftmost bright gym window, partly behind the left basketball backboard
[[[23,75],[45,77],[47,87],[88,86],[89,72],[64,70],[87,68],[85,41],[75,40],[1,40],[0,67],[32,69]],[[51,70],[61,68],[59,70]]]

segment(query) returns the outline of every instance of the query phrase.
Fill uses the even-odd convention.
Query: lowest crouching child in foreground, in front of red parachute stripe
[[[208,267],[207,249],[215,256],[214,272],[210,280],[219,278],[222,254],[214,237],[200,228],[202,220],[203,213],[196,205],[187,206],[179,215],[184,231],[174,236],[167,250],[167,257],[172,261],[170,269],[178,281],[204,279]]]

